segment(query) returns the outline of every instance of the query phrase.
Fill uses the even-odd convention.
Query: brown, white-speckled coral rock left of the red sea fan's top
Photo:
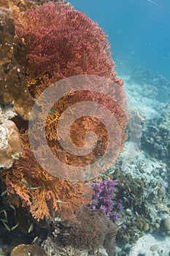
[[[30,118],[34,100],[26,86],[26,48],[15,34],[15,21],[7,1],[0,0],[0,96],[1,102],[12,103],[24,120]]]

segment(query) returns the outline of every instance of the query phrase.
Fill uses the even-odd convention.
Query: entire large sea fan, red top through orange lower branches
[[[26,45],[26,77],[31,94],[35,97],[52,83],[76,75],[95,75],[106,78],[118,88],[123,85],[123,82],[116,78],[115,64],[112,61],[104,31],[83,12],[74,10],[71,5],[50,1],[36,9],[15,15],[15,25],[18,37]],[[106,82],[102,86],[107,90],[109,84]],[[120,126],[121,146],[123,146],[127,118],[120,105],[125,106],[125,99],[122,91],[117,90],[116,86],[114,88],[117,103],[114,100],[111,101],[107,95],[102,93],[94,95],[90,90],[73,92],[69,97],[66,95],[55,102],[53,110],[47,116],[45,128],[50,149],[55,157],[59,154],[58,159],[61,162],[80,167],[89,165],[95,162],[98,159],[98,153],[102,155],[107,147],[107,129],[104,125],[93,116],[82,116],[72,126],[73,142],[78,147],[83,146],[85,133],[92,130],[98,135],[97,145],[101,148],[100,151],[97,149],[84,158],[61,152],[55,127],[61,113],[77,102],[88,100],[98,102],[114,113]],[[109,127],[115,128],[110,120],[109,122]],[[68,122],[66,126],[67,124]],[[62,136],[61,134],[61,138]],[[119,143],[116,135],[113,139]],[[112,160],[114,162],[115,158],[113,157]],[[58,166],[56,170],[60,171]],[[4,171],[1,176],[4,177],[9,192],[19,195],[22,206],[28,206],[36,219],[50,217],[52,210],[63,218],[72,217],[82,205],[91,203],[93,191],[88,184],[77,181],[77,178],[66,181],[50,175],[48,170],[43,170],[36,162],[26,142],[23,155],[15,162],[12,169]],[[72,184],[72,180],[76,180],[77,183]]]

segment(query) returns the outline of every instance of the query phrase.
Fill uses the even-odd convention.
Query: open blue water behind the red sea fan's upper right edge
[[[108,35],[116,71],[152,69],[170,78],[169,0],[70,0]]]

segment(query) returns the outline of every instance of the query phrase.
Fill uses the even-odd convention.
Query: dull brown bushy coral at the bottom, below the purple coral
[[[46,252],[50,244],[53,244],[50,246],[50,255],[53,255],[54,249],[58,250],[55,254],[60,255],[62,247],[73,251],[84,250],[85,255],[100,255],[100,251],[104,252],[106,249],[109,256],[114,255],[117,227],[101,210],[91,210],[83,206],[75,219],[70,222],[55,221],[53,227],[53,233],[49,233],[47,240],[42,244]]]

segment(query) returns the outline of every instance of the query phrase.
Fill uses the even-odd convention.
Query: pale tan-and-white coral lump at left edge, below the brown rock
[[[0,125],[0,167],[9,168],[22,152],[22,142],[15,123],[4,121]]]

